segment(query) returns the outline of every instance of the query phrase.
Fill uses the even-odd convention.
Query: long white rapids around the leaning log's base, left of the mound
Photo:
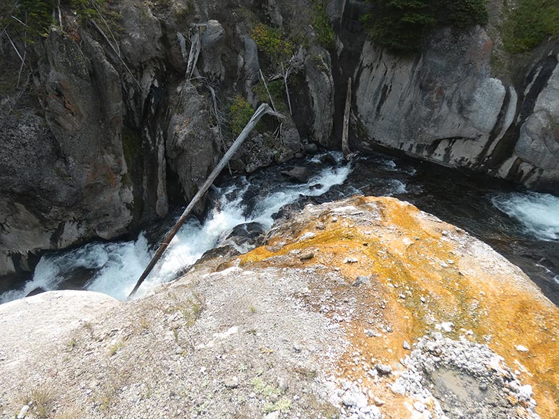
[[[335,154],[338,162],[341,154]],[[164,259],[136,293],[145,295],[151,288],[175,279],[177,272],[191,265],[205,251],[216,246],[220,236],[242,223],[256,221],[270,228],[272,216],[284,205],[294,203],[300,195],[320,196],[332,186],[342,184],[351,172],[350,165],[325,168],[312,177],[307,184],[284,185],[281,191],[263,195],[251,214],[245,216],[242,196],[249,187],[248,182],[241,186],[229,186],[219,191],[220,202],[201,224],[189,221],[182,226],[171,242]],[[234,196],[232,200],[228,197]],[[97,291],[124,300],[132,291],[136,280],[149,263],[153,251],[148,248],[144,235],[135,242],[92,243],[62,255],[41,258],[34,277],[25,284],[24,289],[8,291],[0,295],[0,303],[24,297],[36,288],[46,291],[57,289],[64,281],[64,272],[77,268],[94,269],[96,274],[85,286],[89,291]]]

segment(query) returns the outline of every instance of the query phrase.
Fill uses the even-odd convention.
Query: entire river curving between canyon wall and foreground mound
[[[477,181],[429,163],[377,155],[353,163],[339,153],[300,161],[314,172],[306,184],[282,177],[282,167],[249,177],[224,179],[210,194],[215,204],[205,219],[182,226],[138,296],[177,277],[205,251],[214,248],[233,227],[244,223],[272,226],[284,205],[337,200],[354,193],[396,196],[421,210],[456,224],[488,242],[520,266],[556,304],[559,302],[559,198],[510,190],[488,179]],[[333,157],[333,158],[332,158]],[[175,214],[173,221],[179,214]],[[172,224],[172,223],[171,223]],[[0,295],[0,303],[24,297],[36,288],[85,288],[125,299],[149,262],[170,223],[152,226],[131,242],[90,243],[66,252],[45,254],[23,287]],[[153,239],[149,239],[149,237]],[[76,285],[79,284],[79,285]]]

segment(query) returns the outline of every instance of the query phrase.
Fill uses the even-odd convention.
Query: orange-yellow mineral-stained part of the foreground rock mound
[[[313,257],[305,258],[310,252]],[[324,265],[339,270],[349,284],[370,277],[371,291],[356,293],[360,311],[345,323],[351,346],[339,365],[342,375],[369,381],[354,368],[355,353],[398,367],[409,353],[404,341],[444,323],[450,337],[466,335],[502,355],[521,372],[523,383],[533,385],[537,413],[559,417],[559,309],[491,247],[413,205],[357,196],[341,204],[307,206],[280,225],[266,247],[242,256],[241,263]],[[392,332],[375,339],[363,335],[371,327],[371,309]],[[519,345],[529,350],[517,351]],[[383,412],[409,416],[409,403],[379,390],[386,399]]]

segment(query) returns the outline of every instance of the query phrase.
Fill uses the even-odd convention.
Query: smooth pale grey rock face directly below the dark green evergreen
[[[412,58],[365,43],[355,101],[369,140],[449,166],[481,165],[516,110],[514,88],[491,78],[491,49],[481,27],[440,29]]]

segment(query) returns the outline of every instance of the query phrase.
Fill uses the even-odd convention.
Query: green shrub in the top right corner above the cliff
[[[556,36],[559,36],[557,0],[521,0],[507,13],[503,43],[508,52],[525,52]]]

